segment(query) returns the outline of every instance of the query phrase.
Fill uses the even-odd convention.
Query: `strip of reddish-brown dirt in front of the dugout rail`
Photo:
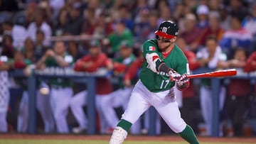
[[[1,133],[0,139],[67,139],[67,140],[109,140],[110,135],[70,135],[70,134],[45,134],[45,135],[30,135],[30,134],[11,134]],[[256,138],[213,138],[213,137],[198,137],[201,142],[229,142],[229,143],[256,143]],[[129,135],[127,140],[163,140],[163,141],[182,141],[178,136],[146,136],[146,135]]]

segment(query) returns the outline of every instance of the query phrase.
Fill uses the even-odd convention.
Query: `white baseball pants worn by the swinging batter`
[[[178,109],[174,88],[164,92],[150,92],[140,80],[132,91],[122,119],[134,123],[150,106],[154,106],[166,124],[175,133],[181,133],[186,128],[186,123],[181,118],[181,113]]]

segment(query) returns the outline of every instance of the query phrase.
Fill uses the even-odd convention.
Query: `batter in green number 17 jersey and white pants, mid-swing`
[[[178,26],[172,21],[163,21],[155,34],[156,39],[146,40],[143,45],[144,62],[139,81],[134,86],[127,109],[112,133],[110,144],[123,143],[129,128],[150,106],[154,106],[172,131],[188,143],[198,144],[193,129],[181,118],[174,95],[175,82],[179,90],[189,86],[188,60],[174,44]]]

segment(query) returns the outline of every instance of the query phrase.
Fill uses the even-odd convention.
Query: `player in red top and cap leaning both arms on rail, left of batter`
[[[75,62],[74,70],[78,72],[97,72],[97,70],[101,67],[105,67],[107,70],[112,70],[112,61],[107,57],[107,55],[105,55],[105,53],[101,52],[99,41],[93,40],[90,43],[89,54]],[[107,111],[105,111],[103,107],[110,92],[112,92],[112,84],[110,83],[110,79],[106,77],[97,78],[96,108],[100,116],[100,133],[105,133],[105,131],[110,128],[110,124],[105,121],[104,113],[107,113]],[[90,101],[86,101],[86,97],[87,91],[84,90],[78,94],[75,94],[73,99],[70,101],[71,111],[79,124],[78,128],[73,128],[74,133],[81,133],[87,129],[87,117],[83,111],[83,106]]]

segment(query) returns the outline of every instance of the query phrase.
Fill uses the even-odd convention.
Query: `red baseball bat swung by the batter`
[[[188,78],[203,78],[203,77],[230,77],[237,74],[235,69],[228,69],[228,70],[215,70],[213,72],[204,72],[201,74],[190,74]]]

